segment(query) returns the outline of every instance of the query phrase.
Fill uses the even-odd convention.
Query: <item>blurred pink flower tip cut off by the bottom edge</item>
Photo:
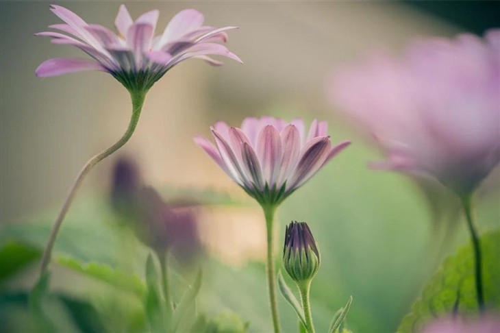
[[[422,333],[499,333],[498,317],[482,317],[465,321],[461,318],[439,319],[430,323]]]

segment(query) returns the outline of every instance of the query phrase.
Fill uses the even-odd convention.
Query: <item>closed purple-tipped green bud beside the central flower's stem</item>
[[[297,284],[312,280],[319,269],[320,254],[309,226],[292,222],[286,227],[283,265]]]

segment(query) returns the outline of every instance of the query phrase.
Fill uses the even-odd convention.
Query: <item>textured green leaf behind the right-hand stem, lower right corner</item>
[[[500,230],[480,238],[486,307],[500,309]],[[399,326],[399,333],[419,332],[425,323],[443,314],[477,314],[474,257],[471,245],[447,258],[427,282],[423,293]]]

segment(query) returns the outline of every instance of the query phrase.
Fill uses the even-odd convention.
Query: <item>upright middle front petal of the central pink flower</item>
[[[282,140],[274,126],[267,125],[260,131],[256,151],[262,165],[264,180],[272,188],[279,175],[283,159]]]

